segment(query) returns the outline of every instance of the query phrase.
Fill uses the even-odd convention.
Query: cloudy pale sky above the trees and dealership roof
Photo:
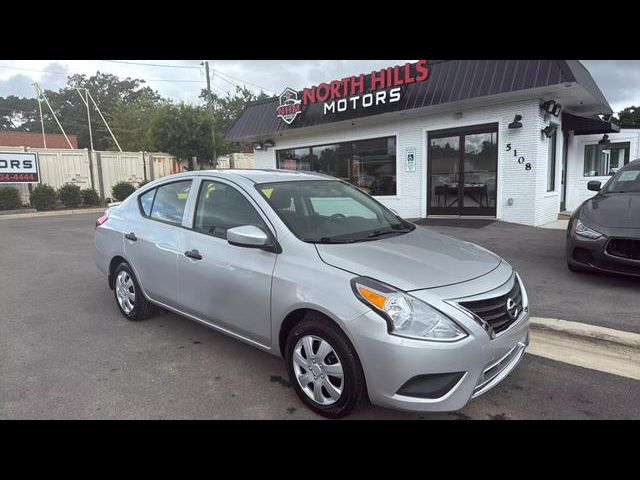
[[[407,60],[209,60],[213,90],[224,95],[234,85],[280,93],[358,73],[403,64]],[[139,65],[154,64],[154,65]],[[640,60],[583,60],[615,112],[640,105]],[[0,96],[34,97],[34,82],[58,90],[74,73],[96,71],[140,78],[165,98],[198,102],[206,86],[199,60],[0,60]]]

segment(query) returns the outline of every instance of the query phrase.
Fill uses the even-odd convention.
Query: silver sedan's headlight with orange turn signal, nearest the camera
[[[425,302],[368,277],[351,280],[356,297],[387,321],[389,333],[400,337],[454,342],[467,333],[444,313]]]

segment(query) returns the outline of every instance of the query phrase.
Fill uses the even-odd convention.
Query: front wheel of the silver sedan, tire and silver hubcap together
[[[360,360],[345,334],[320,314],[308,314],[287,337],[285,359],[291,384],[314,412],[339,418],[362,400]]]

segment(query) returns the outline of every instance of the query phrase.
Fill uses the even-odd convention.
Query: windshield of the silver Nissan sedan
[[[369,241],[415,228],[366,193],[339,180],[262,183],[256,188],[305,242]]]

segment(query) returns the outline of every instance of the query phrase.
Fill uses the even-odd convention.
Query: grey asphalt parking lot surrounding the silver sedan
[[[0,220],[0,418],[319,418],[298,401],[281,359],[173,314],[125,320],[93,263],[95,217]],[[570,273],[563,232],[434,228],[504,255],[534,315],[640,331],[639,283]],[[462,411],[365,406],[350,418],[640,419],[638,405],[638,381],[526,355]]]

